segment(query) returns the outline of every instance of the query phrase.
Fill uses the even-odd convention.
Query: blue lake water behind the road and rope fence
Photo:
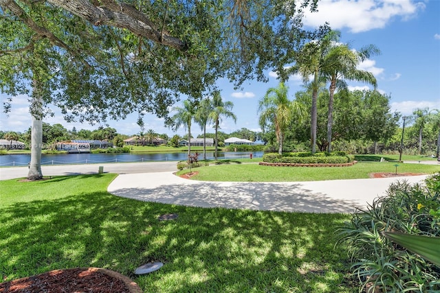
[[[263,152],[218,152],[219,159],[245,159],[250,154],[254,158]],[[41,165],[95,164],[95,163],[134,163],[148,161],[186,161],[187,152],[162,152],[144,154],[42,154]],[[213,160],[214,152],[206,152],[206,159]],[[203,152],[199,152],[203,160]],[[30,154],[8,154],[0,156],[0,167],[19,167],[28,165]]]

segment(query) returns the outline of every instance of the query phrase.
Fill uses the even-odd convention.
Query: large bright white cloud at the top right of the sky
[[[351,32],[367,32],[385,27],[395,17],[404,21],[424,10],[426,5],[411,0],[321,0],[318,12],[305,13],[304,23],[318,27],[327,21],[333,30],[347,27]]]

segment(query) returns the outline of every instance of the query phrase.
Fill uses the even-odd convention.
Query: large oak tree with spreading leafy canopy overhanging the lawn
[[[219,78],[239,86],[292,62],[314,37],[301,12],[317,2],[0,0],[0,91],[32,98],[32,145],[48,104],[67,121],[167,119],[181,95],[198,101]]]

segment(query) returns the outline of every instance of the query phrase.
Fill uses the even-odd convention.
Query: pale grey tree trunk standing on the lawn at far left
[[[34,87],[35,90],[35,87]],[[31,128],[31,149],[30,149],[30,165],[28,172],[29,180],[41,180],[43,179],[43,172],[41,172],[41,149],[43,146],[43,119],[41,113],[43,112],[41,98],[34,102],[34,105],[39,107],[36,109],[36,113],[32,115],[32,128]]]

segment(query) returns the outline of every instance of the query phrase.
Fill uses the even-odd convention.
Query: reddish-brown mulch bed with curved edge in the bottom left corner
[[[52,270],[33,277],[0,283],[1,293],[100,292],[142,293],[128,277],[103,268]]]

